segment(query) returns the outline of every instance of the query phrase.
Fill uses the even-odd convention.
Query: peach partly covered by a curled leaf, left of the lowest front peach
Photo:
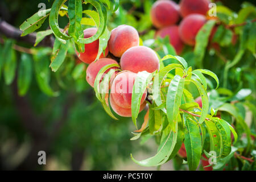
[[[118,63],[113,59],[102,58],[89,64],[88,68],[86,69],[86,81],[89,83],[90,86],[94,87],[94,81],[96,76],[98,75],[98,72],[100,71],[101,68],[103,68],[105,65],[108,65],[108,64],[118,64]],[[117,69],[117,67],[113,67],[110,69]],[[110,69],[108,69],[104,73],[108,73]]]

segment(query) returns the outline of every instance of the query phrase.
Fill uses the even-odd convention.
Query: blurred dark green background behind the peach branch
[[[47,8],[52,5],[52,1],[47,0],[1,0],[1,20],[18,28],[25,19],[38,11],[38,4],[42,2],[46,3]],[[154,1],[120,2],[121,9],[109,16],[109,30],[118,24],[130,24],[138,31],[151,27],[150,17],[141,14],[146,8],[150,8]],[[221,2],[233,11],[238,11],[243,1]],[[248,2],[255,3],[254,0]],[[131,15],[134,12],[136,16]],[[144,24],[138,23],[140,18],[144,18]],[[67,22],[66,17],[60,16],[60,27],[64,27]],[[40,30],[46,28],[48,23],[45,22]],[[148,38],[152,38],[150,36],[152,35],[149,34]],[[1,32],[0,38],[5,38]],[[16,44],[31,48],[31,44],[26,42],[17,41]],[[3,51],[3,45],[0,46]],[[51,48],[42,48],[42,51],[49,49]],[[20,54],[16,52],[17,62]],[[72,50],[69,54],[72,55]],[[48,86],[51,86],[51,91],[49,93],[48,88],[42,88],[45,85],[40,84],[36,68],[33,70],[30,89],[23,97],[18,94],[17,76],[10,85],[6,85],[4,79],[0,78],[0,169],[156,169],[138,166],[131,161],[130,154],[133,153],[136,159],[154,155],[157,138],[131,141],[131,131],[135,129],[131,118],[119,117],[119,121],[114,121],[105,113],[94,96],[93,89],[85,81],[85,74],[75,77],[76,79],[69,74],[71,72],[68,68],[77,64],[75,56],[68,56],[65,66],[63,65],[62,71],[58,73],[52,73],[49,68],[47,69],[49,57],[32,55],[31,59],[39,60],[38,67],[46,65],[41,74],[49,77]],[[58,96],[52,97],[51,92]],[[144,114],[145,111],[139,115],[138,122],[143,122]],[[38,151],[41,150],[47,154],[47,164],[42,166],[38,165],[37,160]],[[172,162],[168,162],[161,169],[172,170],[174,167]]]

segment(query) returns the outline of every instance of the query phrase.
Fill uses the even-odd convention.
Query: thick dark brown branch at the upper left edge
[[[20,31],[18,28],[15,28],[11,24],[5,22],[4,20],[0,19],[0,34],[7,36],[7,38],[15,39],[18,41],[26,42],[29,44],[34,45],[36,41],[36,33],[33,32],[31,34],[28,34],[26,36],[20,36],[22,35],[22,31]],[[38,44],[38,46],[44,46],[44,47],[53,47],[54,39],[52,36],[46,36]]]

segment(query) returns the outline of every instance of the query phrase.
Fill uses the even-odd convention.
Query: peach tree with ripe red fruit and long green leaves
[[[176,169],[186,164],[196,170],[201,161],[206,170],[255,170],[255,79],[250,76],[255,71],[255,6],[244,3],[234,13],[221,3],[210,9],[207,0],[181,0],[179,5],[169,0],[136,1],[128,11],[122,5],[125,2],[55,0],[51,9],[40,10],[21,24],[21,36],[31,35],[49,20],[49,29],[36,33],[35,45],[54,35],[53,48],[32,49],[37,51],[36,62],[52,53],[49,67],[59,78],[72,69],[65,61],[69,54],[89,64],[86,81],[109,117],[131,117],[131,140],[154,137],[159,144],[151,158],[139,161],[131,155],[135,163],[160,167],[173,160]],[[136,13],[141,5],[143,13]],[[59,15],[69,20],[64,28],[59,27]],[[4,52],[12,46],[7,40]],[[6,73],[14,77],[14,59],[7,55]],[[246,67],[236,68],[242,59]],[[85,73],[84,63],[75,66],[73,77]],[[23,67],[20,95],[30,84],[29,68],[26,63]],[[13,77],[6,76],[6,81]],[[45,93],[57,95],[43,86]],[[245,108],[254,114],[249,126]],[[144,121],[138,126],[143,110]]]

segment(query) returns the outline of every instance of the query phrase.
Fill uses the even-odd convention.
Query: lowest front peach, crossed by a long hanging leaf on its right
[[[110,91],[110,105],[115,113],[123,116],[131,116],[131,96],[137,73],[123,71],[113,80]],[[146,106],[147,90],[144,90],[141,98],[141,110]]]

